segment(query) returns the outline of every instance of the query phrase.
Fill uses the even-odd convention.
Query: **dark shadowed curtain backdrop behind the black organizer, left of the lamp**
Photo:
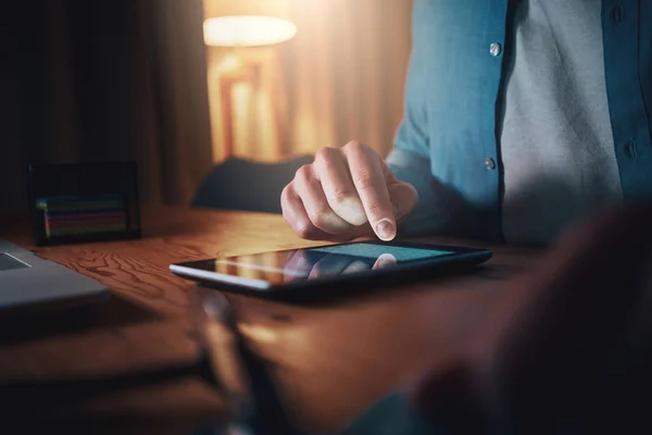
[[[186,203],[212,162],[200,0],[0,7],[0,213],[29,162],[136,161],[146,201]]]

